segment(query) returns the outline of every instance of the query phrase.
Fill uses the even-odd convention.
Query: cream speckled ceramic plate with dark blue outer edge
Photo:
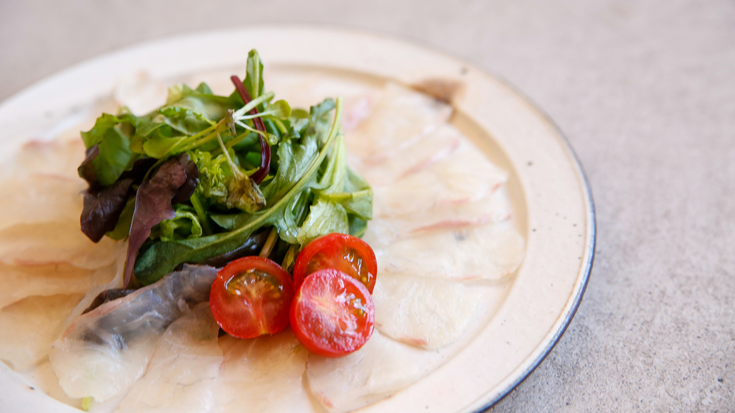
[[[463,62],[372,34],[267,26],[193,34],[127,48],[40,81],[0,105],[0,151],[54,136],[109,96],[118,79],[154,78],[242,67],[257,48],[268,67],[323,70],[365,81],[456,88],[452,123],[509,170],[523,265],[500,309],[456,357],[365,412],[479,412],[506,395],[551,351],[587,285],[595,218],[587,180],[559,130],[516,91]],[[194,51],[194,52],[192,52]],[[204,51],[204,54],[202,52]],[[76,412],[33,390],[0,363],[0,410]]]

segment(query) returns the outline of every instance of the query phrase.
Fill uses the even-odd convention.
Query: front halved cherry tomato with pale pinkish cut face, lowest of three
[[[291,304],[291,329],[312,353],[340,357],[373,335],[375,307],[368,288],[342,271],[325,269],[304,279]]]

